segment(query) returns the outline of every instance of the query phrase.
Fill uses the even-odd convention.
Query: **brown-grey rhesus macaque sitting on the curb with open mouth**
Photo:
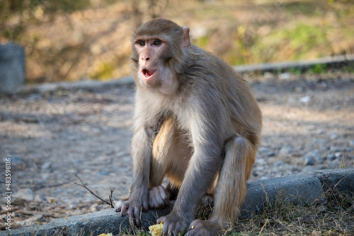
[[[216,235],[236,219],[260,142],[262,115],[245,81],[190,42],[189,29],[157,18],[132,36],[135,126],[129,200],[117,212],[140,225],[141,209],[178,191],[163,233]],[[169,184],[161,187],[167,177]],[[215,208],[195,220],[206,193]]]

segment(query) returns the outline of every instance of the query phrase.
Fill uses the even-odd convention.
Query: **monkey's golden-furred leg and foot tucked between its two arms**
[[[166,119],[152,145],[149,208],[161,208],[169,204],[170,192],[161,183],[167,175],[171,179],[168,189],[181,186],[189,160],[185,158],[186,155],[190,155],[190,148],[183,142],[173,119]]]

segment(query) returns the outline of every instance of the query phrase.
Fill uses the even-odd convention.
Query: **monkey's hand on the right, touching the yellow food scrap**
[[[171,211],[169,215],[163,216],[157,220],[157,223],[164,222],[164,229],[162,235],[181,234],[184,235],[188,230],[188,225],[192,222],[194,216],[181,216],[175,211]]]

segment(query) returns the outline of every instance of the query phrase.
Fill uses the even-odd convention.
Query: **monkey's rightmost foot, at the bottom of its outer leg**
[[[188,236],[215,236],[220,232],[220,225],[210,220],[194,220],[189,225]]]

